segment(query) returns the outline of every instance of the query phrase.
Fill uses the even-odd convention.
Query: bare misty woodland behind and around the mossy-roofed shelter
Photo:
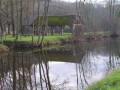
[[[104,4],[76,0],[75,3],[60,0],[0,0],[1,35],[22,34],[23,25],[30,25],[38,16],[76,15],[79,13],[87,31],[119,32],[120,5],[117,0],[108,0]],[[47,24],[46,24],[47,25]],[[34,25],[33,25],[34,32]]]

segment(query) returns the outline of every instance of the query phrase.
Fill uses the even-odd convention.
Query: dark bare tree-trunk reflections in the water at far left
[[[46,61],[24,53],[13,52],[7,56],[1,56],[0,60],[0,90],[51,90]],[[36,71],[38,62],[39,74]]]

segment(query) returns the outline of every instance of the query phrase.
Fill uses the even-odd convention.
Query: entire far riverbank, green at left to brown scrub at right
[[[63,43],[75,43],[87,40],[104,40],[108,37],[108,34],[103,32],[98,32],[95,35],[93,33],[84,33],[79,35],[78,37],[73,37],[71,33],[64,33],[63,35],[55,34],[45,36],[43,40],[42,46],[49,46],[49,45],[56,45],[56,44],[63,44]],[[42,38],[42,37],[41,37]],[[40,39],[41,39],[40,38]],[[31,35],[22,35],[18,36],[17,41],[15,41],[15,37],[12,35],[6,35],[3,37],[4,45],[12,48],[34,48],[34,47],[41,47],[38,44],[38,36],[34,36],[34,42],[32,43],[32,36]]]

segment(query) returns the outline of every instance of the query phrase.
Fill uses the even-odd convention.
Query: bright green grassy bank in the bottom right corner
[[[115,70],[86,90],[120,90],[120,70]]]

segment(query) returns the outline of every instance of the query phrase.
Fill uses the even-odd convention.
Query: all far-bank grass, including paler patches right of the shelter
[[[104,36],[107,35],[108,33],[105,32],[97,32],[96,36]],[[59,35],[59,34],[54,34],[54,35],[48,35],[44,37],[44,43],[47,42],[56,42],[62,39],[67,39],[71,37],[71,33],[64,33],[63,35]],[[85,32],[83,33],[84,36],[93,36],[93,32]],[[41,37],[42,38],[42,37]],[[14,41],[15,37],[13,37],[12,35],[6,35],[3,37],[3,41]],[[32,36],[31,35],[18,35],[18,42],[32,42]],[[34,43],[37,43],[38,41],[38,36],[34,36]]]

